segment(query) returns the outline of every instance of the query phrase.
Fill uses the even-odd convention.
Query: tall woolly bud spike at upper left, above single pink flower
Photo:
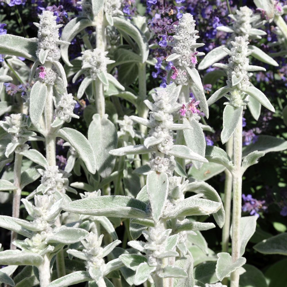
[[[46,61],[58,61],[61,58],[61,52],[58,44],[59,28],[63,25],[57,25],[57,16],[51,11],[43,11],[39,15],[40,23],[34,23],[38,28],[38,49],[36,56],[39,57],[41,53],[47,53]]]

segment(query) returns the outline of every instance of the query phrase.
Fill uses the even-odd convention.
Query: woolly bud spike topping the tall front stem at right
[[[248,44],[243,37],[235,37],[234,41],[230,42],[232,48],[230,50],[230,57],[228,59],[228,80],[226,84],[229,87],[237,86],[239,89],[245,90],[249,87],[248,66],[250,51],[248,51]],[[236,83],[236,84],[234,84]]]

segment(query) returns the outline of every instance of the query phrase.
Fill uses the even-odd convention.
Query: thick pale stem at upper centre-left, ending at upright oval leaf
[[[96,28],[96,47],[103,52],[106,49],[105,44],[105,26],[104,26],[104,9],[102,8],[98,15],[95,17],[94,26]],[[105,114],[105,97],[104,86],[99,79],[95,83],[95,101],[98,114],[103,117]]]

